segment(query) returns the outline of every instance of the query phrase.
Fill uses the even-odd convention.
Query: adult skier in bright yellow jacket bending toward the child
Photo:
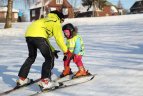
[[[47,18],[42,18],[34,21],[25,33],[28,46],[29,56],[25,60],[19,71],[18,85],[24,85],[30,82],[27,78],[31,65],[34,63],[37,56],[37,49],[40,50],[45,62],[42,65],[41,80],[39,85],[43,89],[51,88],[51,70],[54,66],[54,48],[51,46],[48,38],[54,36],[57,45],[63,51],[64,55],[70,54],[64,43],[61,23],[64,21],[64,15],[58,11],[52,11]]]

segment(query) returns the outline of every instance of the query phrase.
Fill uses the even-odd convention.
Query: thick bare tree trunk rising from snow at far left
[[[7,15],[4,28],[12,27],[12,8],[13,8],[13,0],[8,0]]]

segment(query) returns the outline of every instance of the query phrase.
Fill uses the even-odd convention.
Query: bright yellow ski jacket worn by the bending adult
[[[46,18],[34,21],[25,33],[25,37],[43,37],[47,39],[48,43],[48,38],[53,36],[60,49],[65,53],[67,51],[67,47],[64,42],[60,19],[53,13],[49,13]],[[51,48],[54,50],[52,46]]]

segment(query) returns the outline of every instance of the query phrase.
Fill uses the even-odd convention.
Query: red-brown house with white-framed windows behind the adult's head
[[[30,21],[45,17],[50,11],[58,10],[63,12],[66,18],[73,18],[72,5],[67,0],[46,0],[37,2],[30,7]]]

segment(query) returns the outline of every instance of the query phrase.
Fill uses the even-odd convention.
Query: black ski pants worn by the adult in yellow
[[[22,65],[18,76],[27,78],[31,65],[37,57],[37,49],[40,50],[45,62],[42,65],[41,79],[51,78],[51,70],[54,67],[54,54],[51,50],[49,43],[42,37],[26,37],[29,56]]]

